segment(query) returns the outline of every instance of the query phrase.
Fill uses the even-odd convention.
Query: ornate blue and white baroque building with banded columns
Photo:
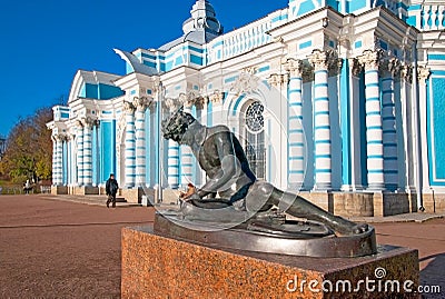
[[[340,215],[445,210],[445,4],[289,0],[224,32],[198,0],[182,36],[115,49],[127,74],[79,70],[53,108],[55,192],[168,192],[205,176],[159,136],[184,107],[228,126],[260,179]]]

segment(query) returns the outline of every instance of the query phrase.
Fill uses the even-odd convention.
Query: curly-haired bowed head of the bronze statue
[[[180,142],[188,127],[195,121],[196,119],[190,113],[184,112],[184,109],[180,108],[169,118],[162,120],[164,138]]]

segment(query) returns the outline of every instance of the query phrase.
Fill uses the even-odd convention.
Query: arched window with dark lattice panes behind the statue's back
[[[246,142],[245,151],[250,169],[258,179],[266,176],[266,147],[264,132],[264,106],[255,101],[245,113]]]

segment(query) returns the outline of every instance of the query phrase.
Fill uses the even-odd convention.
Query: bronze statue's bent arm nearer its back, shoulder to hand
[[[239,163],[237,163],[235,156],[231,134],[229,132],[220,132],[215,136],[215,142],[221,167],[198,191],[200,198],[219,190],[226,190],[235,182],[237,165]]]

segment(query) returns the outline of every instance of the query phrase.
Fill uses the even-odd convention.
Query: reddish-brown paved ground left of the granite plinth
[[[120,298],[120,230],[152,209],[0,196],[0,298]]]

